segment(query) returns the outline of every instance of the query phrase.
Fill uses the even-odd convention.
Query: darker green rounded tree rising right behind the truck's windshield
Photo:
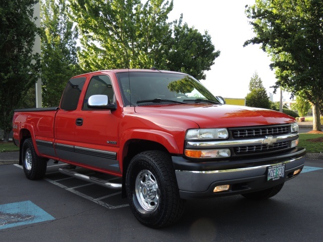
[[[171,71],[188,73],[205,80],[204,71],[210,70],[220,51],[215,50],[207,31],[202,35],[193,27],[188,27],[187,23],[182,24],[182,20],[183,15],[179,21],[174,21],[174,37],[166,66]]]

